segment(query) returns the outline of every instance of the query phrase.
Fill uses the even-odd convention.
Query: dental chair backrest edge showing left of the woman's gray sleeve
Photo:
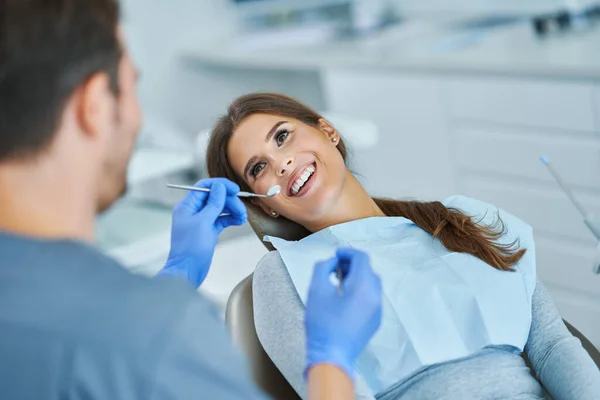
[[[256,384],[275,400],[300,400],[258,340],[254,326],[252,275],[233,289],[227,303],[225,320],[234,344],[248,358]]]

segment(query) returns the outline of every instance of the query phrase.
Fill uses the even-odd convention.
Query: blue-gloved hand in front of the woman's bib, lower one
[[[343,268],[342,293],[330,276]],[[318,263],[306,302],[304,325],[308,370],[321,363],[333,364],[354,379],[354,362],[381,325],[381,280],[367,254],[340,249],[330,260]]]

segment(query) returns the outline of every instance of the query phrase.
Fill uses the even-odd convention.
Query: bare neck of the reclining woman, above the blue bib
[[[318,232],[330,226],[357,219],[385,216],[373,198],[371,198],[369,193],[367,193],[350,171],[346,173],[346,182],[342,189],[342,194],[333,209],[325,218],[304,224],[304,227],[310,232]]]

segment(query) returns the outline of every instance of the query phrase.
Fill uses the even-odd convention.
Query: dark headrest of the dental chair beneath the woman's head
[[[248,209],[250,226],[269,251],[273,251],[275,248],[270,243],[263,241],[265,236],[275,236],[285,240],[300,240],[310,234],[302,225],[289,219],[269,217],[260,207],[254,204],[247,202],[246,208]]]

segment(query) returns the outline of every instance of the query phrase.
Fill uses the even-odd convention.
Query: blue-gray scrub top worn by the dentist
[[[0,399],[264,399],[213,305],[91,246],[0,233]]]

